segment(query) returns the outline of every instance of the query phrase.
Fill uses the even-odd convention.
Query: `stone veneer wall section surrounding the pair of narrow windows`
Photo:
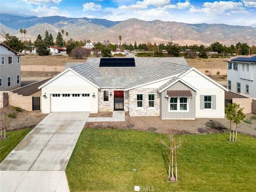
[[[137,108],[137,94],[143,94],[142,108]],[[155,94],[155,108],[148,107],[148,94]],[[156,89],[133,89],[129,91],[129,115],[130,116],[159,116],[160,95]]]

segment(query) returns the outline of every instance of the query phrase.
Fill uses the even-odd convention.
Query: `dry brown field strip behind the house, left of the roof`
[[[65,66],[66,62],[85,62],[86,59],[71,59],[64,55],[23,55],[21,56],[21,65],[47,65],[47,66]]]

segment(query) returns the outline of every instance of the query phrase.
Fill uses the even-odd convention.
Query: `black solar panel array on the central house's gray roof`
[[[134,58],[101,58],[99,67],[135,67]]]

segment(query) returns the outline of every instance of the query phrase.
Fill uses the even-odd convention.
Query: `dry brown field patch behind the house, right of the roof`
[[[227,62],[223,60],[228,60],[227,58],[208,58],[208,59],[186,59],[189,66],[195,68],[211,68],[211,69],[227,69]]]

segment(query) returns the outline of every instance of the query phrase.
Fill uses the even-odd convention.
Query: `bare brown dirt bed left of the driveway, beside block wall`
[[[19,130],[25,128],[34,128],[39,122],[41,122],[47,114],[42,114],[41,111],[26,111],[15,112],[12,106],[6,107],[6,114],[15,114],[16,118],[7,118],[7,130]],[[0,113],[2,109],[0,109]]]

